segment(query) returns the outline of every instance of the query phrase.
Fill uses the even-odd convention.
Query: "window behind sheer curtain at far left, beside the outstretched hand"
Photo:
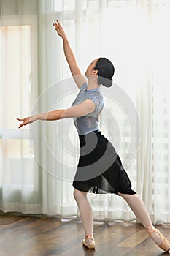
[[[16,118],[28,116],[37,97],[36,19],[19,21],[18,16],[3,18],[0,34],[0,185],[35,189],[28,127],[18,130]]]

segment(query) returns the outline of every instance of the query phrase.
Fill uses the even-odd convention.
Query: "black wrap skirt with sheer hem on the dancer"
[[[80,158],[73,187],[96,194],[136,194],[112,143],[100,131],[79,135]]]

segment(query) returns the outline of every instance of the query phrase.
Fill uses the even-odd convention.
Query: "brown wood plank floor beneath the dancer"
[[[170,240],[170,226],[157,226]],[[156,246],[136,223],[96,223],[96,249],[82,246],[82,223],[77,219],[0,215],[1,256],[158,256],[170,255]]]

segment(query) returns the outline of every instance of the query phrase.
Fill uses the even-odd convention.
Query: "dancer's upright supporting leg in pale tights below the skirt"
[[[87,192],[74,189],[74,198],[77,201],[77,206],[80,211],[82,226],[85,230],[85,235],[93,236],[93,210],[87,198]],[[86,238],[86,244],[91,244],[91,239]]]

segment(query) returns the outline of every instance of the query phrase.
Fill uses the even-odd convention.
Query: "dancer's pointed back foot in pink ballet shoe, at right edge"
[[[169,252],[169,250],[170,250],[170,243],[169,243],[169,241],[163,236],[163,234],[162,234],[159,230],[153,228],[152,226],[148,226],[148,227],[147,227],[147,231],[148,231],[150,237],[152,238],[152,240],[155,241],[155,243],[156,243],[161,249],[163,249],[163,251]],[[156,238],[156,237],[155,237],[155,238],[153,237],[153,236],[156,235],[156,234],[159,236],[160,239],[158,239],[158,238]],[[158,240],[159,240],[159,241],[158,241]]]

